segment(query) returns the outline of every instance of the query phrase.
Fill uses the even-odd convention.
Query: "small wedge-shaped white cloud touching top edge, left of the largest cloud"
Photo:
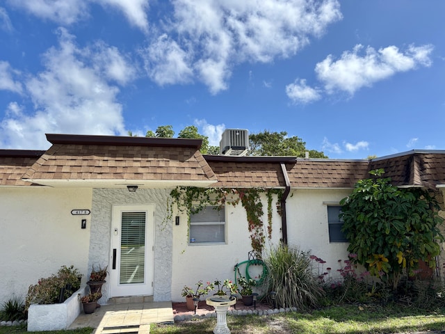
[[[130,24],[142,31],[148,30],[148,0],[97,0],[97,2],[122,10]]]

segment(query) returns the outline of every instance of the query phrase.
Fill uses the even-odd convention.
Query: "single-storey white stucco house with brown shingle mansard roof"
[[[283,189],[274,201],[284,211],[273,210],[267,246],[284,240],[332,268],[347,256],[335,219],[339,201],[369,170],[385,168],[397,186],[431,189],[444,205],[439,150],[334,160],[203,156],[198,139],[47,134],[47,140],[46,151],[0,150],[0,303],[24,297],[29,285],[71,264],[83,283],[93,265],[108,266],[101,303],[141,295],[183,301],[184,285],[232,279],[234,265],[252,249],[245,209],[226,204],[189,226],[175,205],[169,212],[177,186]]]

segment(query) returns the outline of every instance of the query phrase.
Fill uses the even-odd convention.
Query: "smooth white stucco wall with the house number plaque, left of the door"
[[[24,299],[30,285],[63,265],[87,274],[90,216],[73,216],[71,210],[91,209],[91,194],[37,186],[0,189],[0,303]]]

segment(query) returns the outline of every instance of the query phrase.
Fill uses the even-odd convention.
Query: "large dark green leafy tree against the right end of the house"
[[[340,204],[343,232],[350,244],[348,251],[357,255],[373,276],[380,276],[393,289],[403,275],[412,276],[419,260],[435,267],[438,241],[444,237],[437,227],[437,200],[427,190],[398,188],[382,169],[372,170],[369,179],[360,180]]]

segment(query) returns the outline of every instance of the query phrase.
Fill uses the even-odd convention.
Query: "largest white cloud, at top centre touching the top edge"
[[[216,94],[228,88],[234,66],[245,61],[268,63],[275,58],[296,54],[309,39],[324,33],[327,25],[341,19],[339,1],[302,0],[175,0],[174,14],[165,20],[162,36],[172,38],[164,57],[154,58],[150,51],[159,43],[152,40],[146,49],[148,74],[184,68]],[[172,61],[168,54],[179,53]],[[177,65],[182,66],[177,68]],[[161,70],[163,69],[163,70]],[[156,79],[155,79],[156,81]],[[157,79],[156,82],[159,82]],[[180,75],[170,76],[168,84],[181,84]]]

